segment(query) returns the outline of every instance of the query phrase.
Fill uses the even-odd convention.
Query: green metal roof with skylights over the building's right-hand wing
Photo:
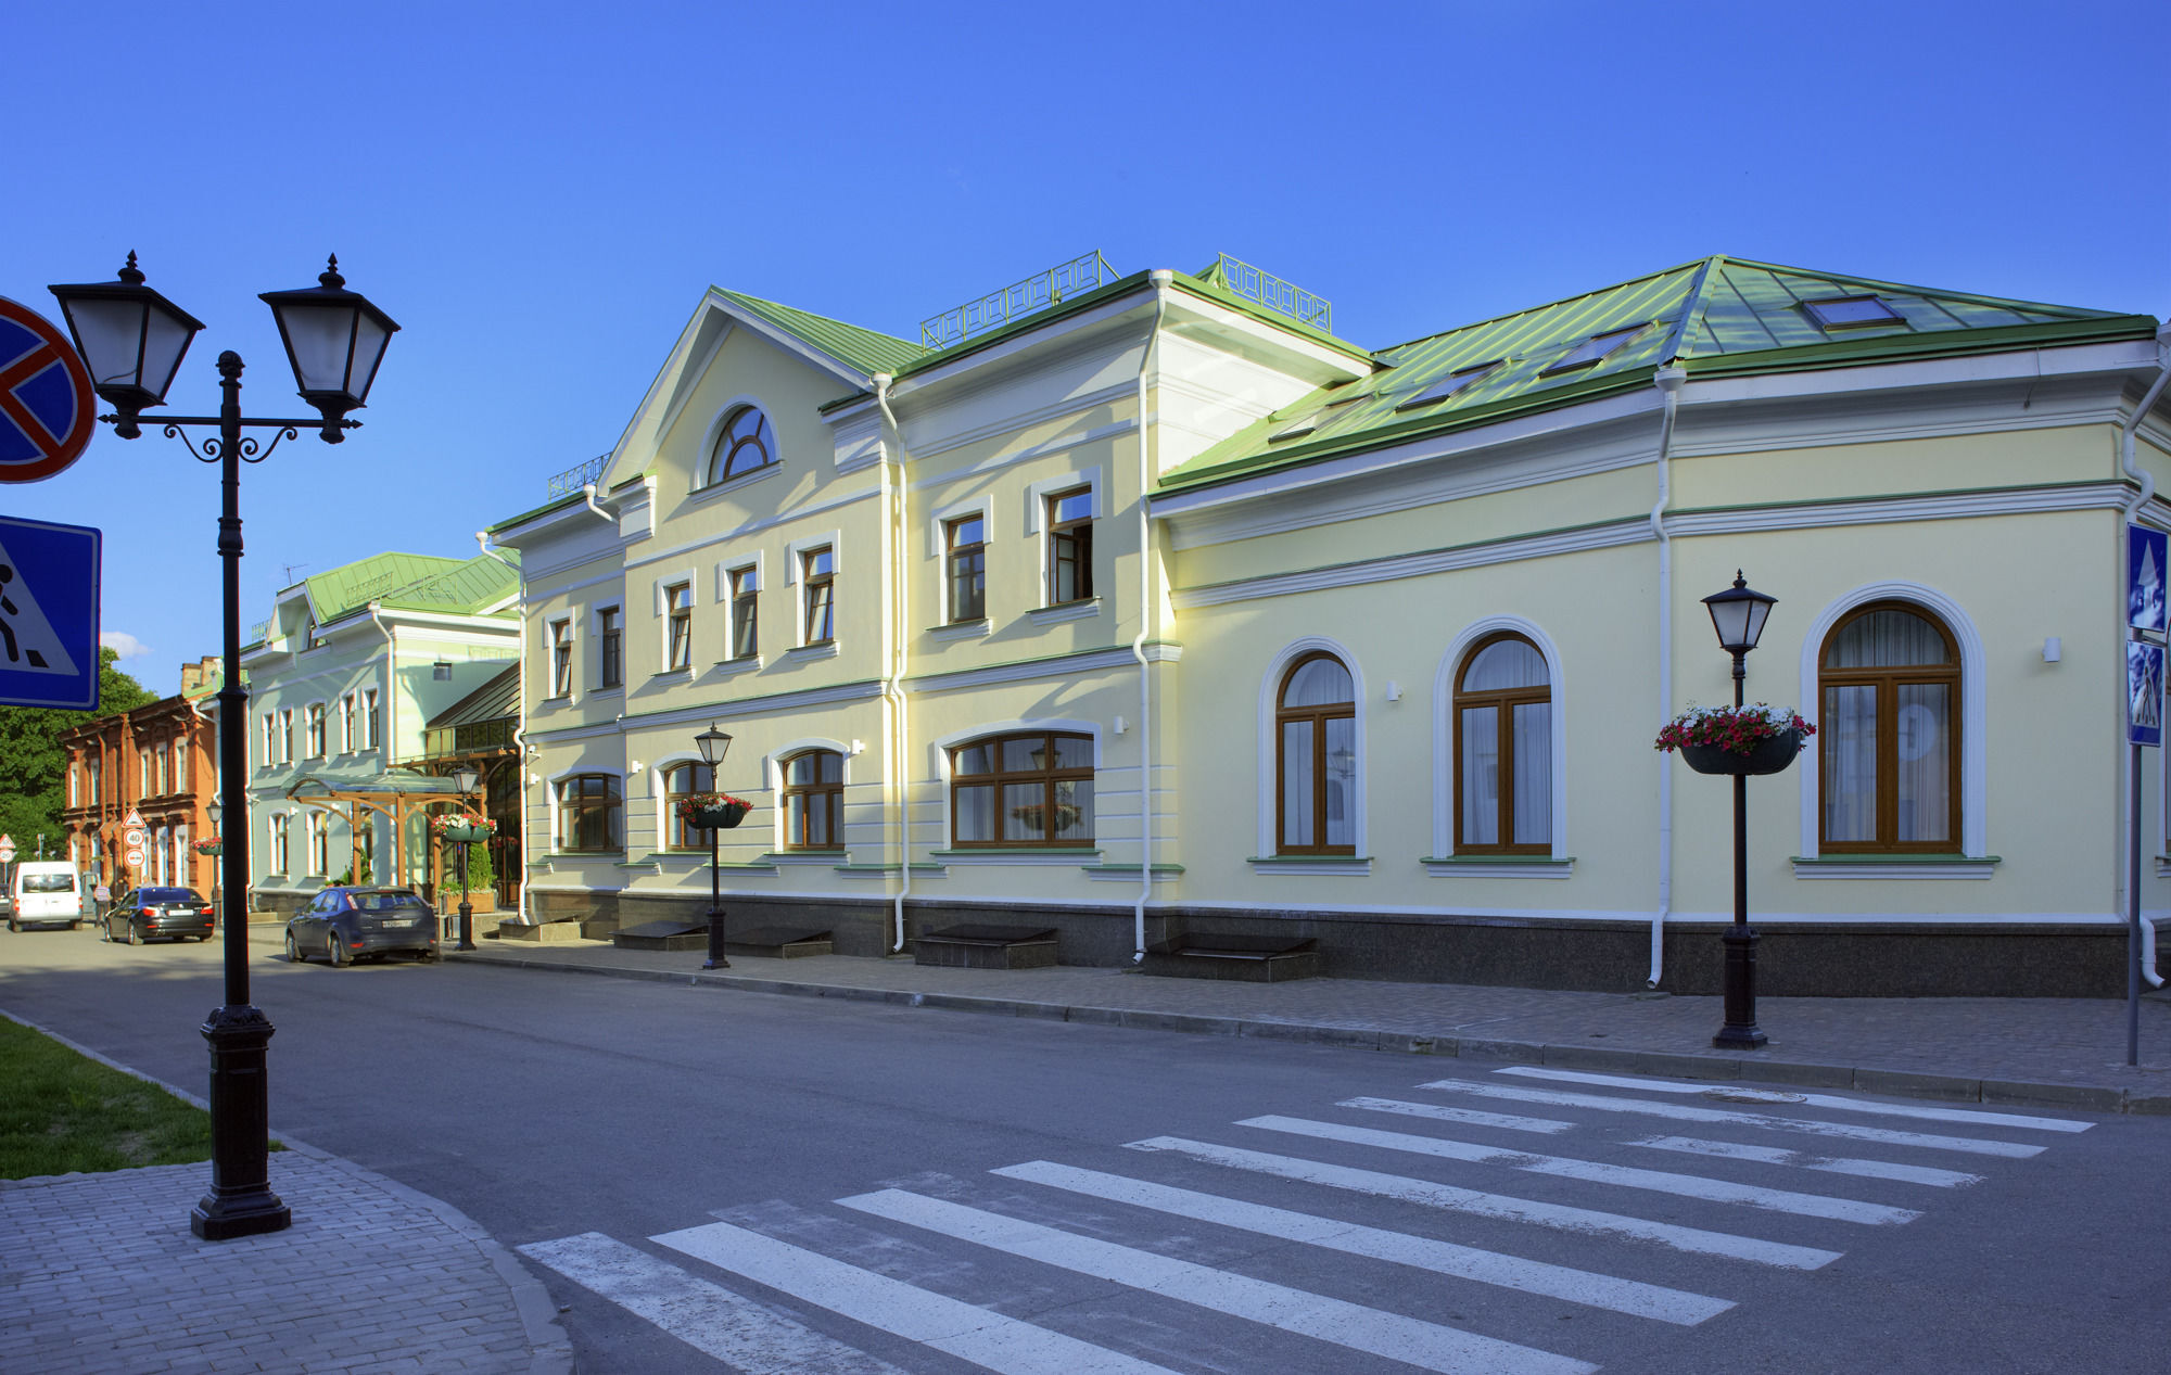
[[[1826,327],[1804,301],[1874,297],[1897,319]],[[2141,314],[2010,301],[1871,278],[1713,256],[1565,301],[1533,306],[1381,349],[1381,373],[1322,388],[1214,445],[1161,477],[1161,490],[1318,462],[1420,434],[1650,386],[1678,362],[1691,375],[1848,367],[1986,349],[2143,338]],[[1576,367],[1594,338],[1626,332],[1596,362]],[[1439,401],[1429,388],[1494,364]],[[1303,421],[1311,421],[1309,429]],[[1285,438],[1277,440],[1277,434]]]

